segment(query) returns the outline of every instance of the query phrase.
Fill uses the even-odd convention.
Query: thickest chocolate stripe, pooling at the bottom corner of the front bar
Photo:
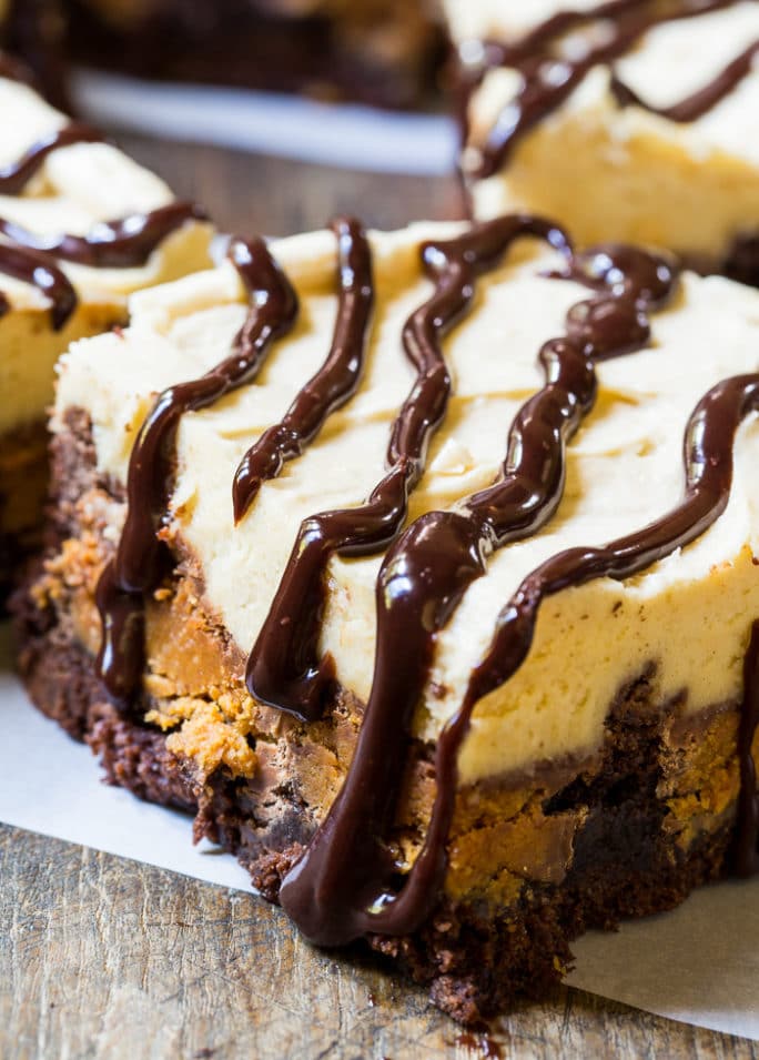
[[[470,244],[470,258],[476,254]],[[428,838],[399,894],[391,888],[394,866],[385,842],[436,635],[486,573],[488,556],[551,518],[564,493],[568,440],[595,401],[595,363],[639,350],[650,336],[647,311],[665,303],[676,285],[662,259],[628,246],[577,255],[566,275],[598,293],[575,304],[566,335],[540,350],[546,383],[512,425],[500,481],[452,511],[417,518],[380,571],[374,677],[354,758],[324,825],[280,894],[316,942],[413,931],[436,901],[455,798],[458,744],[454,747],[447,733],[442,743],[449,760],[443,771],[438,756]],[[458,731],[463,736],[463,728]]]

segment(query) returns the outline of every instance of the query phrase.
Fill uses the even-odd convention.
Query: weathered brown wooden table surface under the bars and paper
[[[391,228],[461,208],[453,180],[119,139],[242,234],[338,212]],[[376,963],[312,949],[252,895],[7,826],[0,880],[0,1060],[759,1057],[741,1039],[570,989],[478,1041]]]

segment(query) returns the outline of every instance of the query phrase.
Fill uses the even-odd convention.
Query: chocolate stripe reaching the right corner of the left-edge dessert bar
[[[188,221],[206,221],[208,213],[192,202],[170,202],[149,213],[119,221],[100,221],[87,235],[38,235],[0,218],[0,232],[20,246],[41,251],[93,269],[143,265],[155,248]]]

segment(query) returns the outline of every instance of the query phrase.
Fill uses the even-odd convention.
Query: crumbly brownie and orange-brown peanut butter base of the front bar
[[[245,704],[244,659],[178,556],[149,608],[143,698],[121,715],[94,668],[92,598],[122,497],[98,479],[85,420],[72,415],[69,427],[55,444],[47,558],[13,604],[27,688],[89,743],[109,781],[194,814],[195,837],[235,854],[276,901],[340,789],[363,706],[340,694],[324,721],[304,725]],[[433,913],[413,935],[366,939],[455,1019],[475,1022],[517,996],[545,995],[583,931],[669,909],[728,871],[739,705],[685,716],[686,689],[657,701],[655,667],[619,689],[597,754],[461,789]],[[424,838],[433,751],[409,749],[392,836],[398,881]]]

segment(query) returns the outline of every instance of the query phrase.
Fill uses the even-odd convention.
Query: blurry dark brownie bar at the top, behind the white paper
[[[432,0],[64,0],[63,10],[68,50],[87,65],[385,107],[428,97],[443,54]]]

